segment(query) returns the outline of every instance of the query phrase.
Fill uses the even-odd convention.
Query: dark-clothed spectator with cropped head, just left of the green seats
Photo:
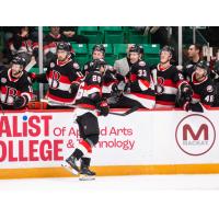
[[[77,34],[77,26],[61,26],[61,33],[66,36],[68,42],[76,42],[77,44],[88,44],[89,38]]]

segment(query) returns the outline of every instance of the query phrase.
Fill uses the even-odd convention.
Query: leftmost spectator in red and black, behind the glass
[[[19,56],[26,60],[36,60],[38,57],[38,42],[35,42],[30,33],[28,26],[21,26],[13,38],[9,41],[11,56]]]

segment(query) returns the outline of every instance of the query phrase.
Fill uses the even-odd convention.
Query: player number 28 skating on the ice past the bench
[[[72,170],[72,173],[80,174],[81,180],[92,180],[95,173],[89,170],[92,154],[92,147],[99,142],[99,115],[106,116],[108,114],[108,105],[102,97],[102,74],[105,71],[105,61],[96,59],[91,64],[90,72],[80,84],[76,97],[77,123],[81,140],[74,149],[73,153],[66,159],[67,164],[64,166]],[[81,161],[80,166],[77,161]]]

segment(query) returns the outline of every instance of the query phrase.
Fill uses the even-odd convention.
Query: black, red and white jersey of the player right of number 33
[[[155,84],[155,106],[174,107],[177,91],[182,83],[187,83],[175,66],[162,68],[158,65],[151,69]]]

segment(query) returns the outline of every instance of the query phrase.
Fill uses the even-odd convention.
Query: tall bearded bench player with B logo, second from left
[[[79,65],[71,59],[69,43],[59,43],[57,60],[50,62],[46,73],[36,74],[35,80],[48,83],[47,108],[68,108],[74,102],[82,78]],[[74,92],[69,93],[70,87]]]

